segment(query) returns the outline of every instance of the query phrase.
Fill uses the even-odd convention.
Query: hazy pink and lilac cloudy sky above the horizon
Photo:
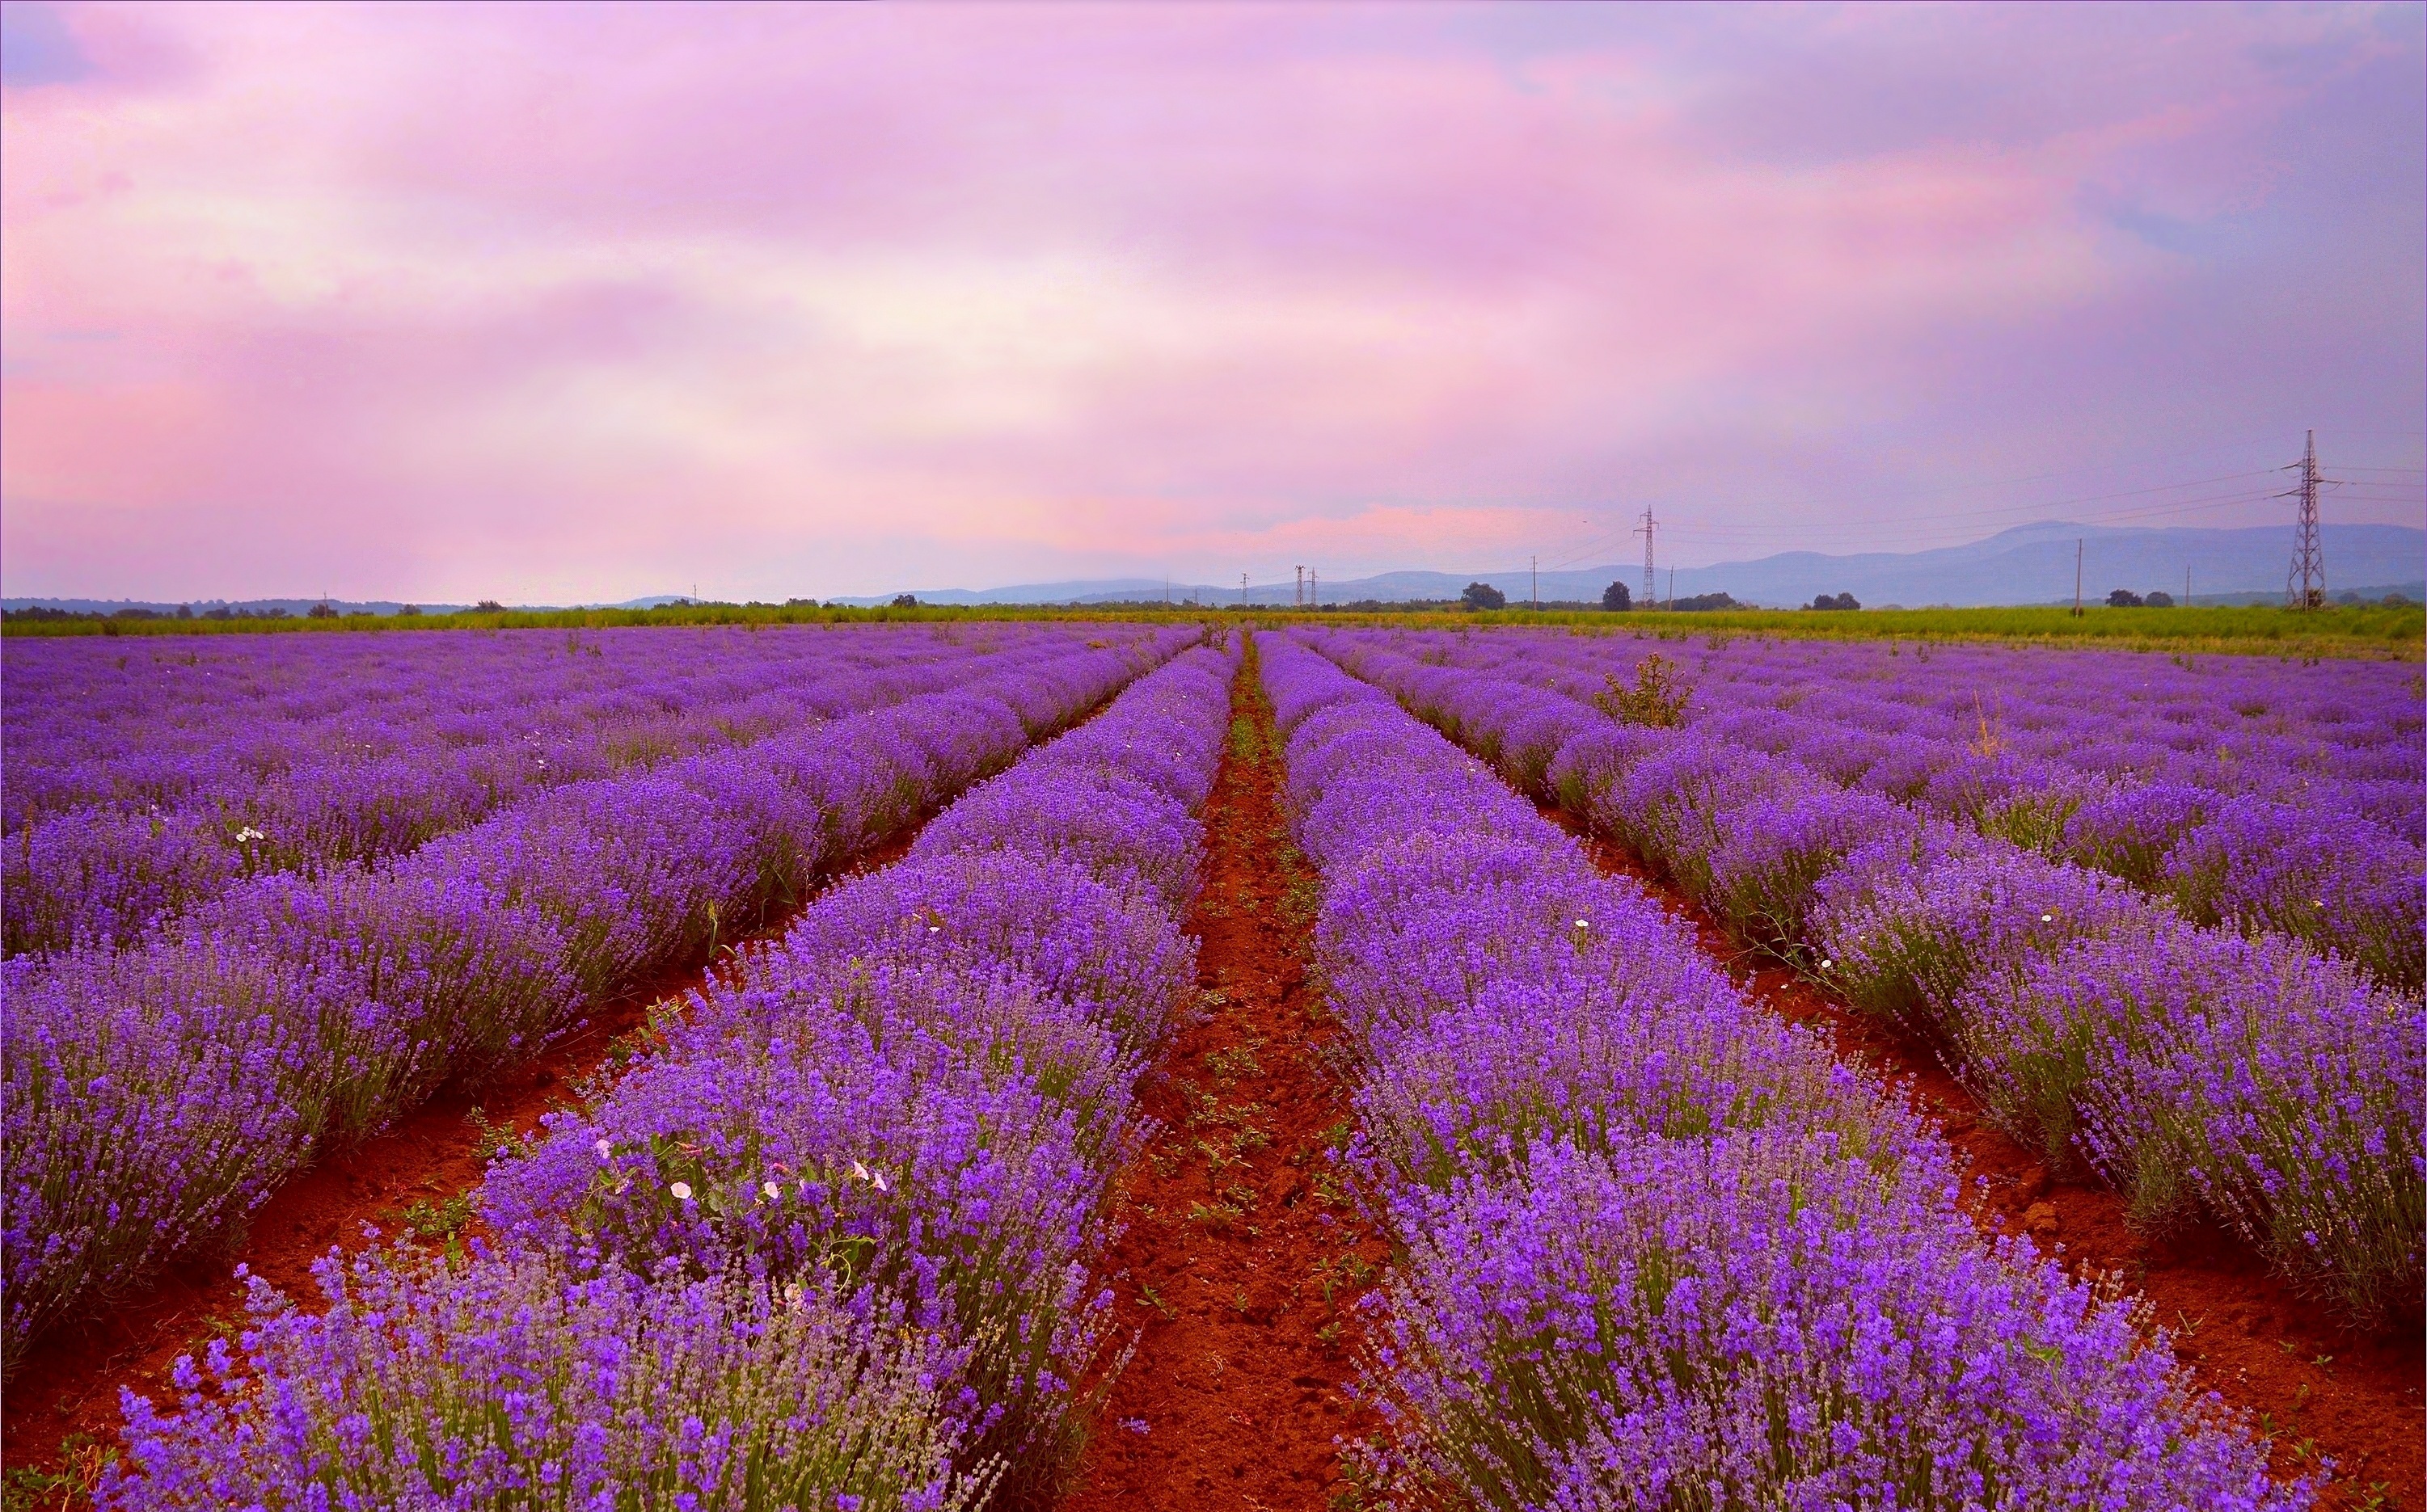
[[[0,17],[10,595],[2422,515],[2420,5]]]

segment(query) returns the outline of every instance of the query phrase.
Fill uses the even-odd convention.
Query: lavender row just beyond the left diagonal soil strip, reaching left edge
[[[332,1143],[481,1080],[1000,769],[1192,631],[582,781],[413,857],[265,876],[126,949],[0,964],[0,1359],[206,1255]]]

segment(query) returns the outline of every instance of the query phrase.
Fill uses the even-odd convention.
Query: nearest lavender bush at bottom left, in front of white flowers
[[[857,1507],[959,1512],[966,1349],[811,1274],[636,1274],[553,1255],[318,1267],[320,1313],[252,1281],[240,1349],[126,1396],[100,1507]]]

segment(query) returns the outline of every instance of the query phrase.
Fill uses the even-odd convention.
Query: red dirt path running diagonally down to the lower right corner
[[[2303,1298],[2250,1252],[2240,1235],[2194,1226],[2148,1240],[2124,1221],[2124,1199],[2085,1170],[2051,1180],[2029,1148],[2007,1138],[1980,1102],[1946,1073],[1929,1046],[1823,993],[1806,976],[1767,954],[1743,949],[1706,910],[1650,874],[1624,847],[1590,835],[1561,808],[1546,818],[1578,835],[1595,862],[1633,876],[1670,913],[1694,927],[1701,949],[1726,961],[1755,1000],[1828,1029],[1837,1051],[1905,1082],[1912,1104],[1932,1116],[1988,1177],[1976,1216],[2000,1233],[2031,1233],[2075,1272],[2121,1274],[2148,1298],[2153,1323],[2175,1335],[2175,1354],[2196,1381],[2247,1410],[2274,1439],[2274,1471],[2284,1478],[2335,1461],[2323,1507],[2354,1512],[2427,1512],[2427,1410],[2415,1328],[2357,1332]]]

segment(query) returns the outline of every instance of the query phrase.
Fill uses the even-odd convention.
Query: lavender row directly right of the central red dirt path
[[[1638,886],[1332,663],[1267,677],[1400,1245],[1366,1366],[1393,1502],[2308,1505]]]

